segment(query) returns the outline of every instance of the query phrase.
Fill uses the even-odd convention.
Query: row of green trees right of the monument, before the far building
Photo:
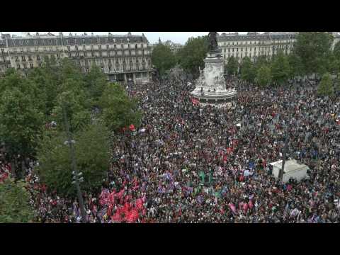
[[[289,79],[314,75],[315,79],[322,77],[324,80],[319,94],[331,96],[334,89],[339,90],[339,83],[332,81],[331,74],[338,77],[340,72],[340,42],[332,51],[333,39],[329,33],[299,33],[290,55],[281,51],[271,58],[258,57],[254,62],[244,57],[240,64],[230,57],[226,70],[230,75],[239,74],[244,81],[259,86],[283,85]]]

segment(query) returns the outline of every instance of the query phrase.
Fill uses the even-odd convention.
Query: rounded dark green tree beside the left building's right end
[[[152,50],[152,63],[161,75],[176,65],[176,57],[167,45],[158,44]]]

